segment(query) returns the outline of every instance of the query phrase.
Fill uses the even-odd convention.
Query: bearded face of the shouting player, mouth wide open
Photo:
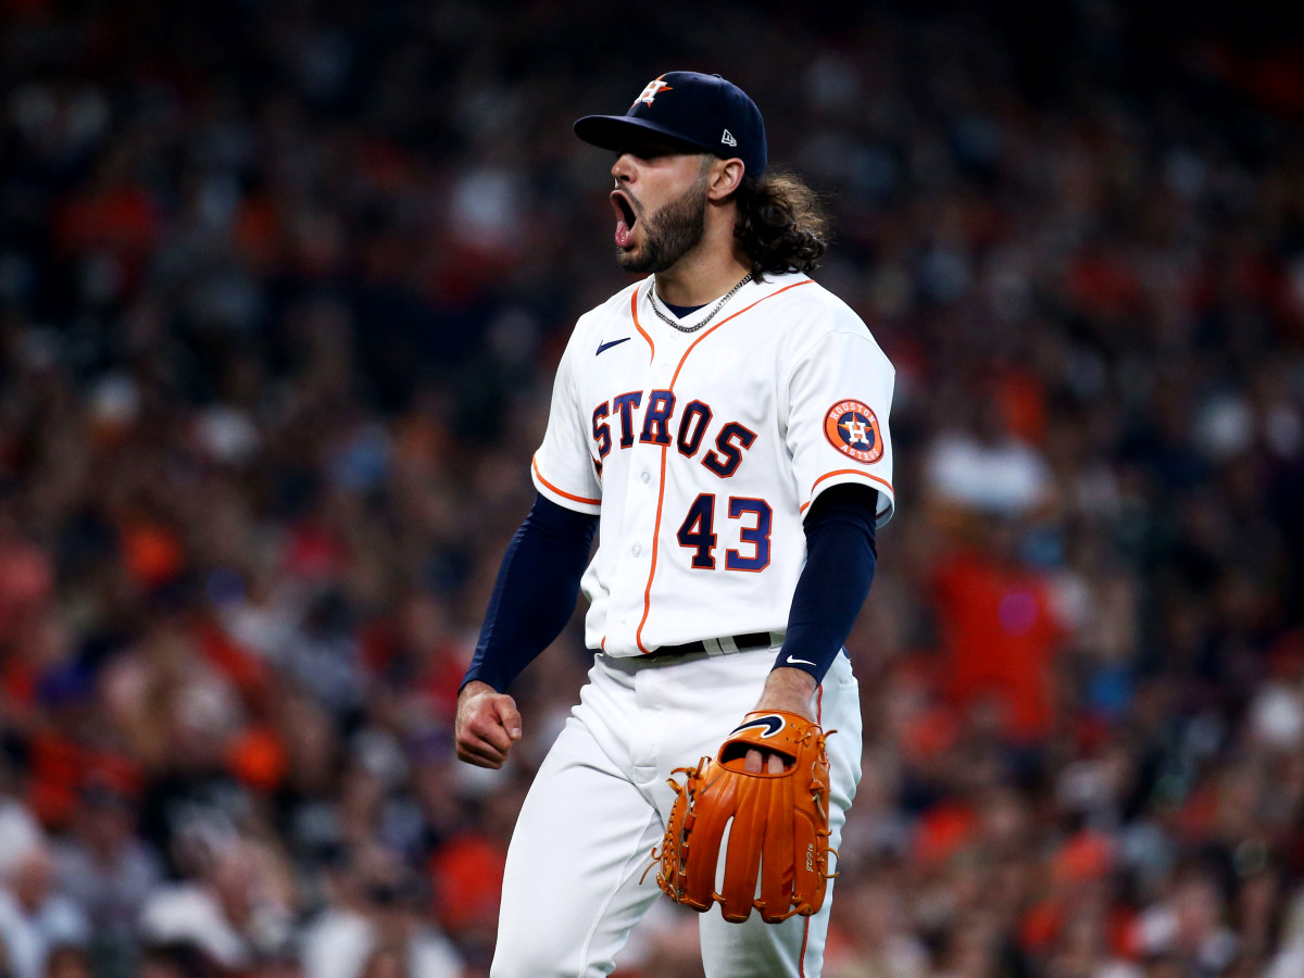
[[[615,261],[660,273],[691,252],[705,230],[711,156],[657,142],[626,147],[612,167]]]

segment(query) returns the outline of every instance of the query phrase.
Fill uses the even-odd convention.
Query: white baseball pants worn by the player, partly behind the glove
[[[615,968],[630,930],[665,898],[639,878],[674,805],[677,767],[715,755],[760,696],[777,648],[668,660],[595,657],[535,777],[507,850],[492,978],[591,978]],[[838,655],[816,692],[828,739],[831,844],[861,777],[859,686]],[[833,896],[812,917],[767,925],[702,915],[708,978],[818,978]]]

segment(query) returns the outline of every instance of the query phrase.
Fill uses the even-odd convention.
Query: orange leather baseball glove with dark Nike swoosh
[[[827,880],[837,875],[828,871],[824,738],[818,724],[797,713],[747,713],[715,760],[677,768],[675,775],[686,775],[685,784],[670,778],[677,798],[661,849],[652,852],[660,862],[661,889],[703,913],[719,902],[724,918],[734,923],[746,921],[752,908],[765,923],[816,913]],[[778,752],[782,773],[745,771],[754,747]],[[724,887],[717,893],[726,835]]]

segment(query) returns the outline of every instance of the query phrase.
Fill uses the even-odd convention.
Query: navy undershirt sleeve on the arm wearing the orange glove
[[[874,580],[876,505],[874,489],[846,484],[811,503],[803,526],[806,566],[797,579],[776,669],[803,669],[820,682],[842,649]]]

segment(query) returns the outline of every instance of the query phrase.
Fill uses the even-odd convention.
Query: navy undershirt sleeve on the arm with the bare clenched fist
[[[503,554],[463,686],[480,679],[506,692],[561,635],[575,610],[596,529],[597,516],[535,497]]]

